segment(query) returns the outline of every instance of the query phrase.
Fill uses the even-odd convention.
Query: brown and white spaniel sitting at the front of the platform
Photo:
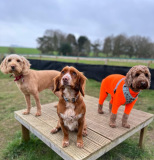
[[[87,135],[85,122],[86,106],[83,101],[86,77],[74,67],[64,67],[54,79],[54,92],[61,91],[61,97],[57,106],[59,121],[57,127],[51,133],[57,133],[62,129],[64,138],[62,146],[69,145],[69,130],[77,131],[77,147],[84,146],[82,135]],[[81,96],[82,94],[82,96]]]

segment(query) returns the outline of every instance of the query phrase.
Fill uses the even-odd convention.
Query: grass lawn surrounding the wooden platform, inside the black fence
[[[37,137],[31,135],[28,143],[21,141],[20,124],[14,118],[14,111],[26,108],[23,95],[18,90],[13,78],[0,72],[0,160],[61,160],[48,146]],[[100,82],[87,80],[86,93],[90,96],[99,96]],[[143,91],[134,106],[154,114],[154,90]],[[49,90],[41,92],[42,104],[58,100]],[[35,106],[32,100],[32,106]],[[97,109],[96,109],[97,111]],[[146,136],[146,149],[138,148],[139,133],[133,135],[99,160],[131,160],[154,159],[154,122],[148,128]]]

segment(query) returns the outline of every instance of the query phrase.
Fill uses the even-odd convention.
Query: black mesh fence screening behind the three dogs
[[[130,67],[120,66],[107,66],[107,65],[89,65],[80,63],[65,63],[57,61],[43,61],[43,60],[32,60],[29,59],[32,64],[32,68],[38,70],[58,70],[61,71],[65,66],[74,66],[79,71],[83,72],[84,75],[89,79],[94,79],[101,82],[103,78],[110,74],[123,74],[126,75]],[[151,72],[151,87],[154,89],[154,69],[150,69]]]

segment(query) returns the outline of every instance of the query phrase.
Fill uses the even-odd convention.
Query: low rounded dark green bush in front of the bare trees
[[[72,53],[72,47],[68,43],[63,43],[61,44],[59,51],[60,53],[62,53],[62,55],[68,56],[68,55],[71,55]]]

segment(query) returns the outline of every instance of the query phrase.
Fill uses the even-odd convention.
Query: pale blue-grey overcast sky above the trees
[[[47,29],[91,41],[125,33],[154,42],[154,0],[0,0],[0,46],[37,47]]]

